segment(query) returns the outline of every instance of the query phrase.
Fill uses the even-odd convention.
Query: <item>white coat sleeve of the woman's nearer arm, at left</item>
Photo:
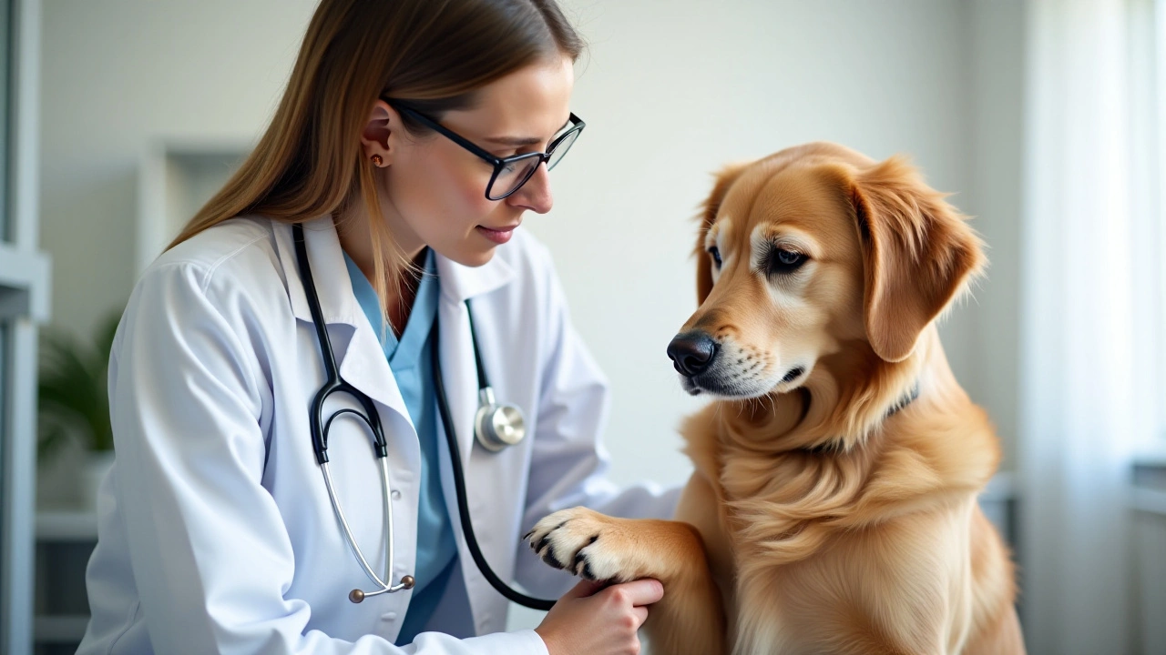
[[[285,598],[293,545],[261,486],[272,395],[245,336],[237,284],[190,263],[152,269],[131,298],[110,367],[114,501],[157,653],[546,654],[533,631],[405,648],[305,631]],[[321,573],[326,575],[326,573]],[[343,601],[343,599],[338,599]]]

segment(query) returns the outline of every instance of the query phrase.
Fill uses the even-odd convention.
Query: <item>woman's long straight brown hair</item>
[[[267,131],[168,247],[240,214],[302,223],[363,202],[373,288],[387,308],[386,260],[394,273],[408,262],[381,219],[360,146],[373,103],[391,97],[440,119],[541,57],[575,61],[582,50],[555,0],[322,0]]]

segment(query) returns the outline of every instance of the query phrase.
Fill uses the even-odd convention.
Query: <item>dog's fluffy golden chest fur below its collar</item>
[[[971,513],[993,463],[964,460],[981,471],[954,474],[918,439],[890,435],[849,453],[764,453],[723,428],[686,432],[718,495],[726,543],[709,556],[733,653],[958,650],[974,620]],[[920,608],[942,614],[930,621],[946,626],[944,643],[895,629],[919,619],[897,613]]]

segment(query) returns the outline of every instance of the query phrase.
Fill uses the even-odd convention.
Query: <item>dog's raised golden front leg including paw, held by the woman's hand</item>
[[[656,655],[721,655],[725,620],[701,535],[681,521],[614,519],[584,507],[556,512],[527,537],[545,562],[591,580],[654,578],[663,599],[645,631]]]

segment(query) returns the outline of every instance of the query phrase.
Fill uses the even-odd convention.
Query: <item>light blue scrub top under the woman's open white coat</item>
[[[417,562],[416,586],[406,612],[396,643],[412,643],[426,625],[445,591],[454,563],[457,561],[457,543],[454,541],[454,528],[449,513],[445,510],[444,494],[441,490],[441,474],[437,459],[437,394],[434,390],[433,351],[436,347],[433,332],[434,317],[437,316],[437,295],[441,290],[436,274],[436,262],[433,251],[426,255],[424,274],[413,301],[413,310],[405,325],[401,338],[386,329],[380,301],[356,262],[344,254],[349,277],[352,281],[352,293],[356,294],[360,308],[377,336],[381,337],[388,367],[396,378],[401,389],[405,407],[413,418],[421,442],[421,498],[417,503]]]

